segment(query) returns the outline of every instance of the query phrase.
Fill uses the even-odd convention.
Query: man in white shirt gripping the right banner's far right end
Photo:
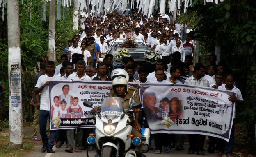
[[[242,104],[244,100],[242,98],[241,91],[234,86],[233,75],[231,75],[231,74],[226,75],[224,82],[225,82],[225,85],[220,86],[219,89],[224,89],[224,90],[229,90],[229,91],[235,92],[236,93],[235,95],[229,96],[229,101],[236,102],[237,104]],[[230,139],[226,146],[227,157],[232,157],[234,142],[235,142],[235,117],[233,120]]]

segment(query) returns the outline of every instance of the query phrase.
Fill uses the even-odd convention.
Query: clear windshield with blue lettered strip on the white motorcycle
[[[121,116],[123,112],[123,99],[120,97],[107,97],[101,104],[101,115]]]

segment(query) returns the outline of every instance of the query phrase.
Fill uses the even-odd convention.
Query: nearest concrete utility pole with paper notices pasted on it
[[[10,147],[23,148],[19,1],[7,1]]]

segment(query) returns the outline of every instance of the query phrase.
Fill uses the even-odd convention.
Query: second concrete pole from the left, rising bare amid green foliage
[[[55,62],[55,0],[50,1],[50,17],[49,17],[49,47],[48,47],[48,58]]]

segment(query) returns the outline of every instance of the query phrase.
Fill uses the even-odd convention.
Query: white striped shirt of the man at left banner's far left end
[[[59,77],[57,75],[53,75],[53,77],[49,77],[46,74],[40,76],[38,78],[37,84],[35,87],[40,88],[43,86],[46,81],[53,81],[53,80],[59,80]],[[43,88],[41,91],[41,97],[40,97],[40,110],[46,110],[49,111],[49,88],[48,85]]]

